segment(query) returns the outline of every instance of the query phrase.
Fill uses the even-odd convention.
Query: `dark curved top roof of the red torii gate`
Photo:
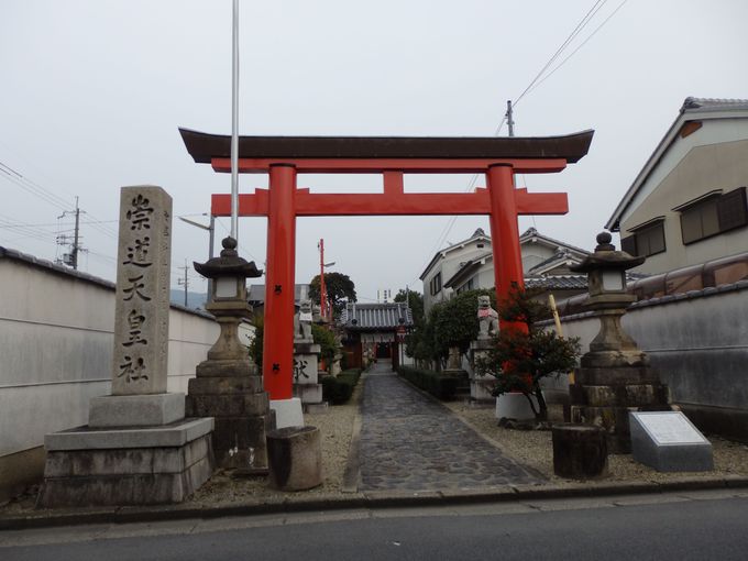
[[[198,164],[231,157],[231,136],[179,129]],[[565,136],[240,136],[246,158],[563,158],[575,163],[590,150],[594,131]]]

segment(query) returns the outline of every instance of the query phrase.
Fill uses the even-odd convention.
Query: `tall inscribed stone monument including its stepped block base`
[[[166,191],[122,188],[112,393],[88,426],[45,437],[41,507],[180,502],[212,473],[213,420],[185,419],[166,392],[170,230]]]

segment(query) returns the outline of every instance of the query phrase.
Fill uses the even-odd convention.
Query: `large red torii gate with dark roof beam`
[[[179,129],[196,163],[231,172],[231,138]],[[586,155],[593,131],[546,138],[241,136],[239,173],[270,174],[270,188],[239,195],[239,216],[267,217],[263,378],[271,399],[293,396],[296,217],[488,215],[496,296],[522,285],[519,215],[564,215],[565,193],[517,189],[514,174],[557,173]],[[382,174],[382,194],[312,194],[297,174]],[[406,194],[404,174],[484,174],[474,193]],[[231,196],[211,213],[231,216]]]

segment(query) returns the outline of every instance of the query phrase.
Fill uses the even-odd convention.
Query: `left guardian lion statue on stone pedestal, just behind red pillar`
[[[311,337],[311,300],[301,300],[294,316],[294,396],[305,408],[322,403],[322,384],[319,383],[319,355],[321,348]]]

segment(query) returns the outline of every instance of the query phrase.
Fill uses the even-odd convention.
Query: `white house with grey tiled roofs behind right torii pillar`
[[[569,266],[581,263],[587,251],[543,235],[535,228],[519,237],[519,248],[527,287],[543,288],[558,298],[586,290],[586,276],[572,273]],[[452,294],[493,287],[491,238],[479,228],[468,240],[437,253],[420,278],[426,311]]]

